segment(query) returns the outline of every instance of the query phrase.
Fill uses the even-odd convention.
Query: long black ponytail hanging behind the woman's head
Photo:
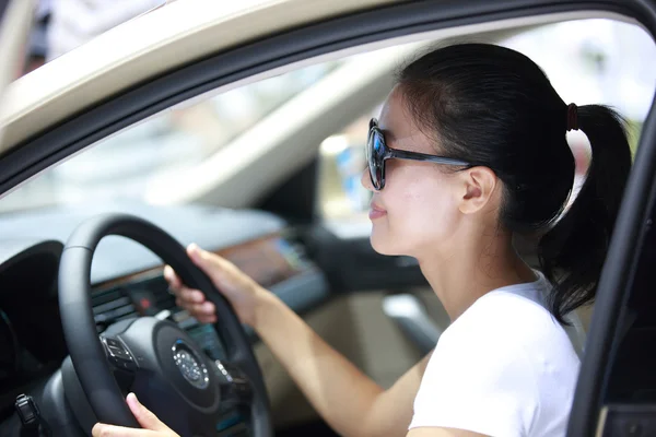
[[[563,323],[567,312],[594,300],[631,168],[622,117],[601,105],[585,105],[577,113],[591,163],[574,203],[538,244],[542,272],[553,284],[550,309]]]

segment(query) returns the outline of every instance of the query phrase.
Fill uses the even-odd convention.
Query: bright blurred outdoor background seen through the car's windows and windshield
[[[185,0],[178,0],[185,1]],[[24,73],[42,67],[90,39],[148,13],[162,0],[42,0],[37,26],[30,38]],[[582,20],[543,25],[493,40],[534,59],[565,102],[602,103],[630,121],[633,149],[656,87],[654,42],[634,24]],[[266,118],[308,93],[348,86],[335,78],[343,71],[402,66],[421,45],[394,47],[316,63],[183,105],[115,134],[25,184],[0,202],[8,213],[33,208],[94,201],[129,200],[155,204],[186,202],[168,188],[194,175],[210,157],[221,156]],[[372,62],[372,59],[374,62]],[[368,61],[366,61],[368,60]],[[368,67],[367,67],[368,66]],[[363,70],[360,70],[363,71]],[[353,75],[351,75],[353,76]],[[368,119],[385,98],[363,110],[350,126],[327,135],[320,144],[320,211],[328,218],[362,217],[368,196],[360,186]],[[298,117],[302,117],[300,114]],[[273,132],[274,134],[274,132]],[[581,181],[589,162],[585,135],[570,133]],[[227,170],[225,160],[215,172]],[[257,177],[257,175],[254,175]]]

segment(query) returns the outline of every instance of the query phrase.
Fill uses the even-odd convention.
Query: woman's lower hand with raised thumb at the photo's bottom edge
[[[93,437],[179,437],[143,406],[134,393],[128,394],[126,402],[143,429],[97,423],[91,430]]]

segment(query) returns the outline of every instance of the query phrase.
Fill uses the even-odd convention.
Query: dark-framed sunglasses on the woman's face
[[[376,191],[385,188],[385,162],[387,160],[411,160],[435,164],[471,166],[471,164],[460,160],[388,147],[385,142],[385,135],[378,128],[378,121],[375,118],[372,118],[366,141],[366,162],[368,164],[372,184]]]

